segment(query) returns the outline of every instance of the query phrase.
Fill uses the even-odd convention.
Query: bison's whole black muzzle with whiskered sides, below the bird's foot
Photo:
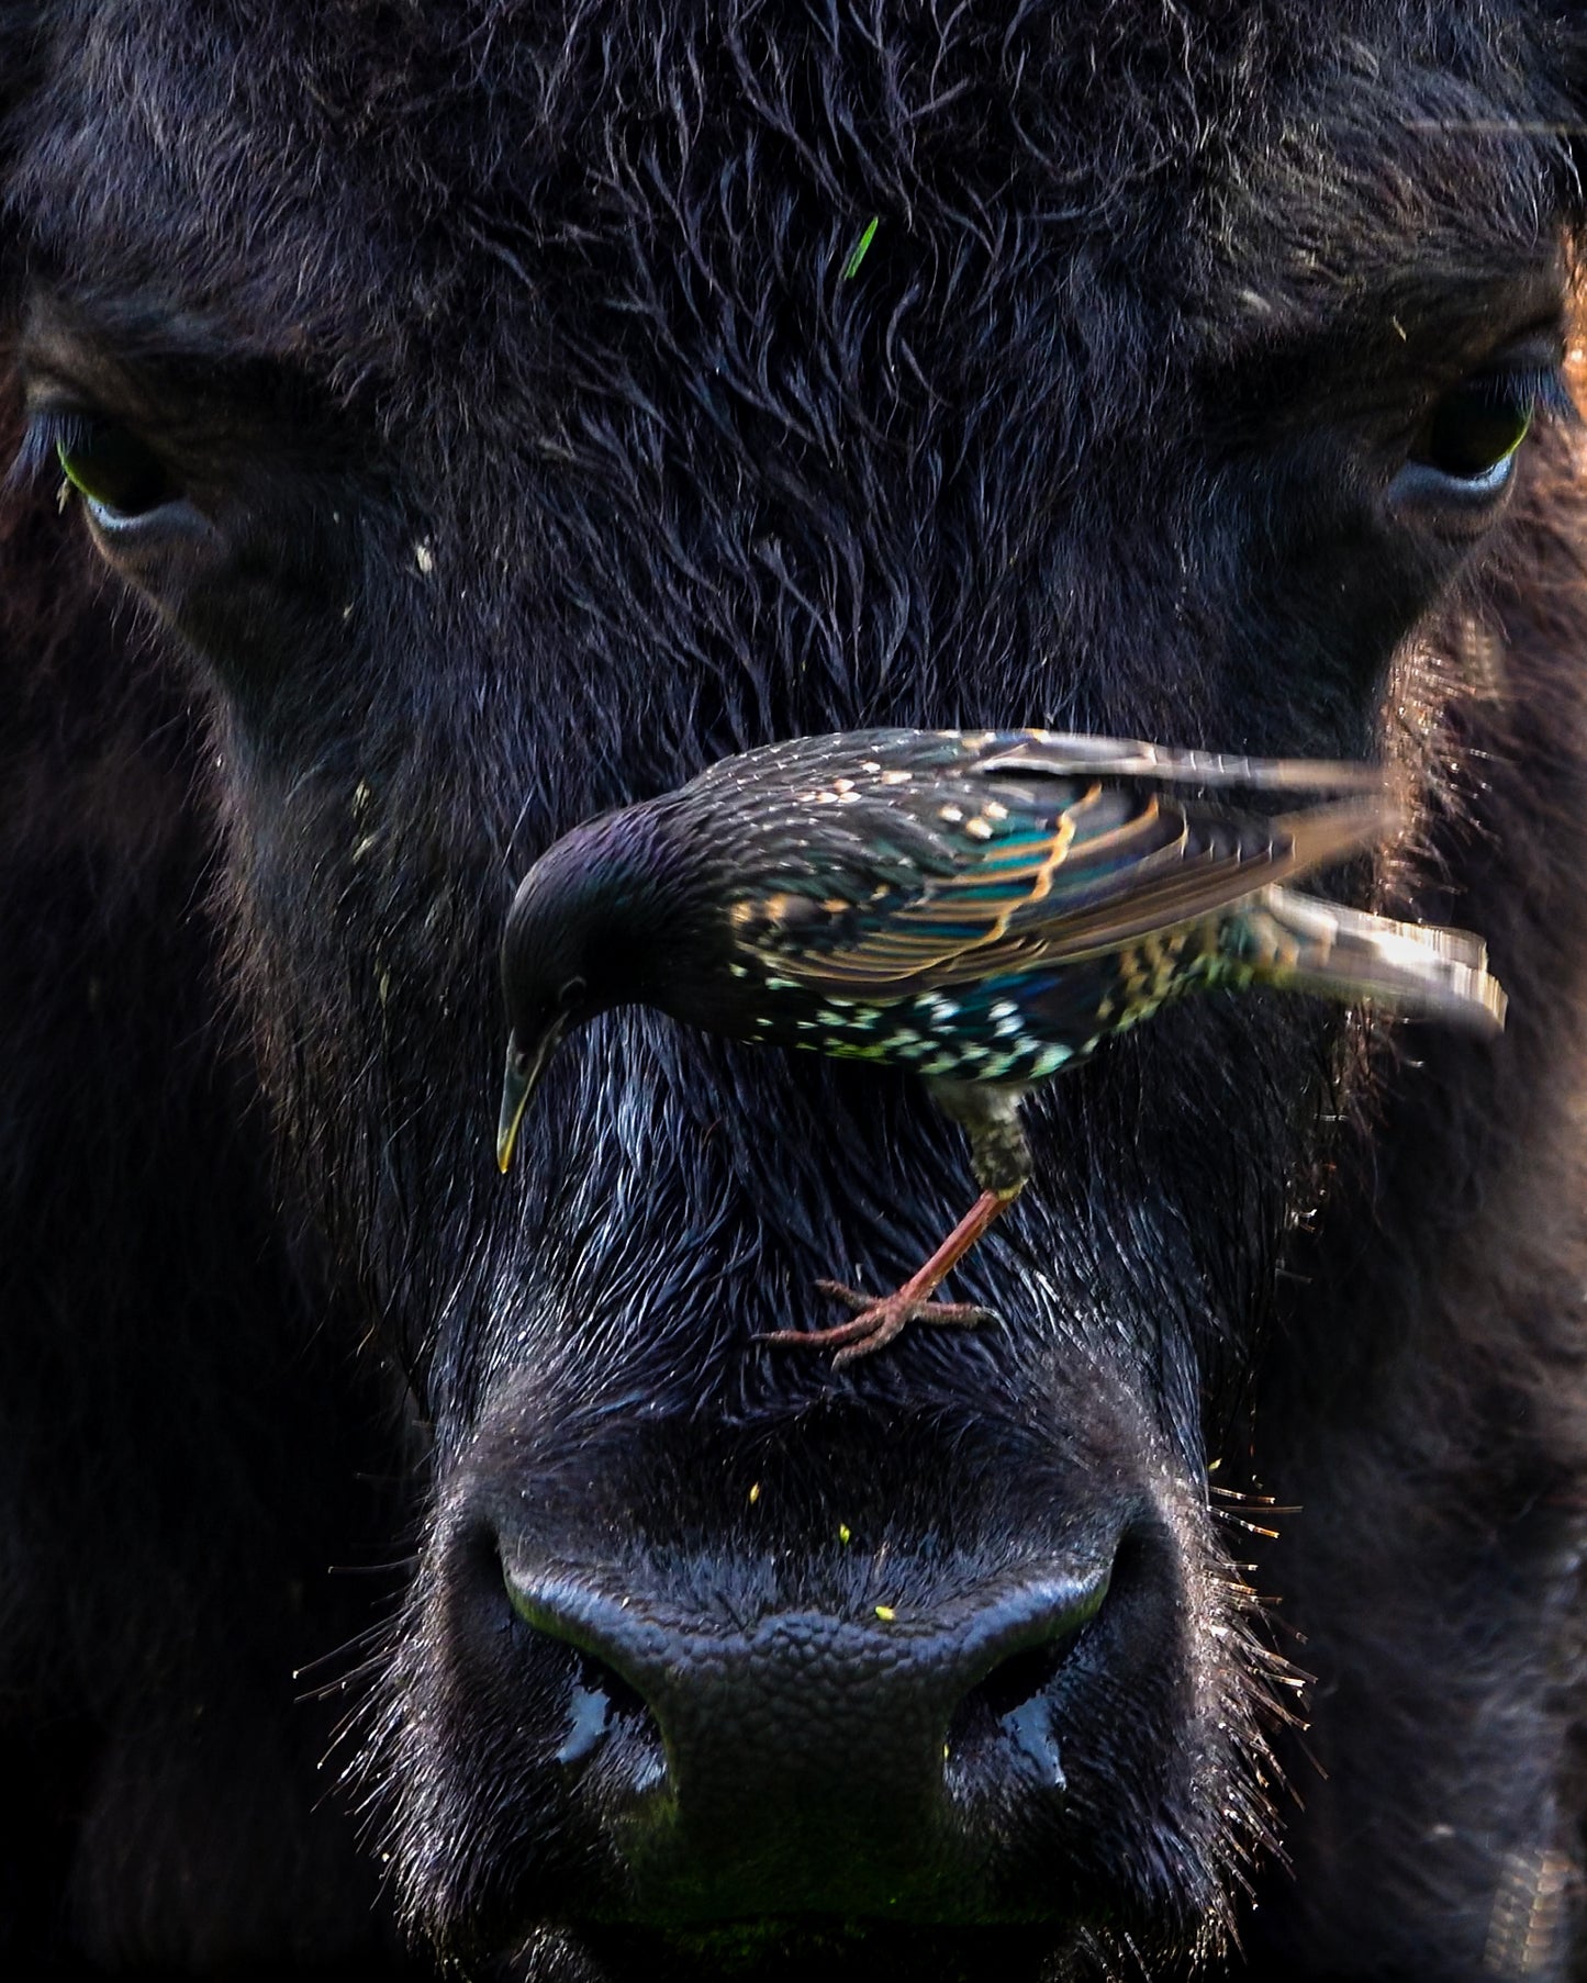
[[[1097,1416],[1107,1458],[1053,1461],[859,1396],[577,1440],[506,1400],[403,1670],[419,1906],[476,1949],[549,1910],[712,1937],[1198,1918],[1234,1717],[1212,1586],[1170,1475]]]

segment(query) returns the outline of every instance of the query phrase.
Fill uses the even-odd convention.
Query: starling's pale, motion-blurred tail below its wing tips
[[[1262,984],[1377,997],[1482,1033],[1504,1031],[1504,986],[1470,930],[1395,922],[1274,886],[1230,922],[1224,952]]]

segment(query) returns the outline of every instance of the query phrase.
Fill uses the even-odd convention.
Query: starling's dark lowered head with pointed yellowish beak
[[[508,1065],[496,1162],[512,1164],[518,1126],[563,1035],[645,995],[657,920],[651,835],[641,809],[609,813],[549,847],[518,886],[502,940]]]

